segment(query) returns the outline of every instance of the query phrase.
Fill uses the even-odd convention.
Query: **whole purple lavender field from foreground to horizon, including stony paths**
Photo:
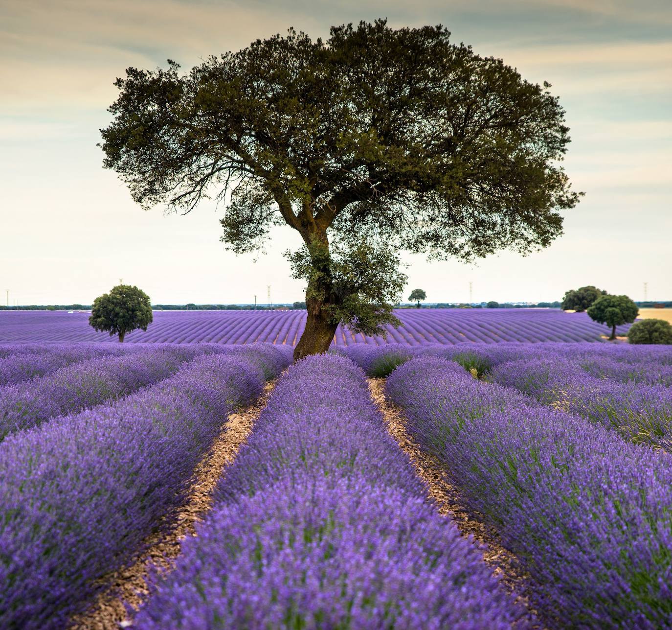
[[[297,313],[159,315],[181,343],[0,343],[0,627],[672,626],[672,347],[427,310],[292,364]]]

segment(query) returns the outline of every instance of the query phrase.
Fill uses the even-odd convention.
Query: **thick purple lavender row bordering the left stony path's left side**
[[[0,444],[0,627],[67,627],[107,574],[169,530],[162,517],[183,502],[228,414],[261,392],[259,362],[287,363],[263,348],[201,356],[110,406]]]

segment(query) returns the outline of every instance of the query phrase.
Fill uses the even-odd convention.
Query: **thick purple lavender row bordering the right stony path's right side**
[[[530,572],[548,627],[672,625],[672,460],[417,358],[386,384],[417,443]]]

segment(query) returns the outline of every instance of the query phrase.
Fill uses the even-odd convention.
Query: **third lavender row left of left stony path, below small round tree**
[[[41,346],[38,352],[26,350],[30,344],[17,344],[15,352],[0,358],[0,386],[30,381],[73,363],[103,356],[131,354],[141,346],[112,344],[53,344]]]

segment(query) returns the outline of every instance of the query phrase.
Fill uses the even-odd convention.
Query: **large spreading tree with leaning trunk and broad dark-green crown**
[[[385,20],[329,39],[257,40],[189,73],[126,70],[105,167],[145,209],[189,212],[216,194],[222,241],[256,250],[286,224],[306,280],[300,358],[327,350],[339,322],[398,323],[398,251],[470,261],[546,247],[577,203],[558,164],[569,143],[550,85],[451,44],[442,26]]]

